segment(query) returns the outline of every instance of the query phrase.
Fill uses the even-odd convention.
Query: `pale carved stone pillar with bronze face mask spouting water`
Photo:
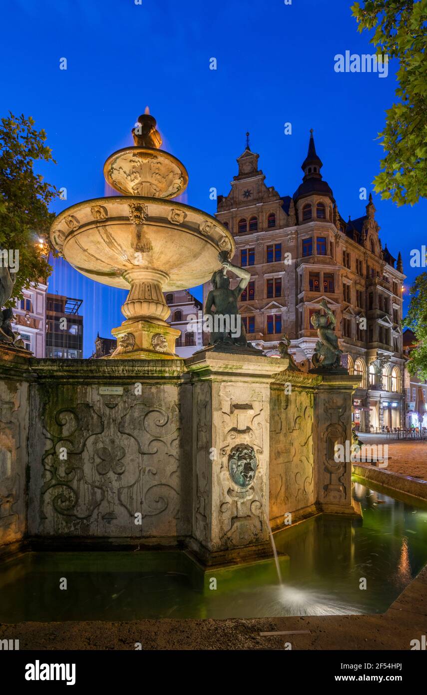
[[[283,360],[203,350],[193,384],[190,548],[206,564],[270,555],[270,382]]]

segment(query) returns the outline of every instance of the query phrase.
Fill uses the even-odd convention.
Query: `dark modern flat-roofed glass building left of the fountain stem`
[[[46,357],[83,357],[83,316],[78,313],[83,300],[47,295]]]

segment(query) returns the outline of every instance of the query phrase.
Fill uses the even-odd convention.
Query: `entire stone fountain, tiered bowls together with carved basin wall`
[[[290,516],[358,518],[351,461],[335,449],[351,441],[360,379],[333,368],[332,319],[316,318],[317,373],[298,370],[286,337],[282,359],[225,338],[174,359],[163,291],[222,263],[248,277],[225,261],[228,230],[171,200],[187,172],[159,149],[153,117],[133,137],[104,167],[120,195],[74,205],[51,227],[76,270],[129,290],[112,359],[24,359],[0,343],[0,552],[174,547],[218,566],[269,557],[270,525]]]

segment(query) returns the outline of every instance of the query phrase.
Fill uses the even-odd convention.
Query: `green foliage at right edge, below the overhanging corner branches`
[[[411,352],[408,370],[420,379],[427,379],[427,272],[417,275],[410,288],[410,297],[404,322],[415,333],[417,347]]]

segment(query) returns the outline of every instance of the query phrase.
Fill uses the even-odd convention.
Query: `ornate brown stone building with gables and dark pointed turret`
[[[362,378],[355,422],[362,431],[400,426],[405,275],[401,255],[396,262],[378,236],[371,195],[365,215],[345,222],[322,177],[312,131],[303,181],[292,196],[266,186],[258,157],[246,142],[231,191],[217,200],[217,218],[235,238],[231,262],[251,271],[239,305],[248,340],[273,356],[287,333],[296,361],[310,361],[317,343],[310,318],[325,299],[344,363]],[[204,300],[209,289],[206,283]]]

